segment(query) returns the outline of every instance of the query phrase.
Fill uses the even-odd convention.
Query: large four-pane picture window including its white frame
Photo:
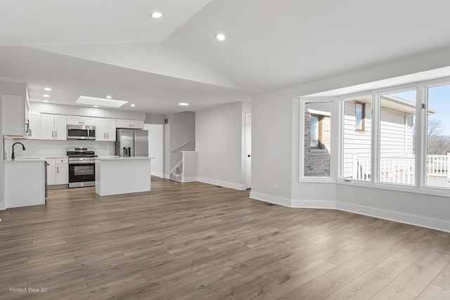
[[[450,195],[450,78],[334,98],[330,92],[300,101],[300,181],[328,177]]]

